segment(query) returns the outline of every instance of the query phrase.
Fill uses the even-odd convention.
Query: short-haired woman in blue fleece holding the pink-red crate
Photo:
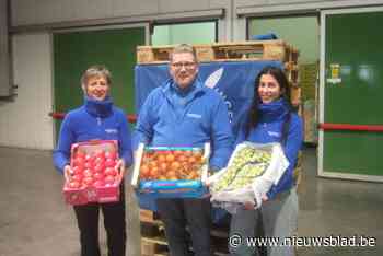
[[[109,96],[111,73],[103,66],[90,67],[81,78],[84,91],[83,106],[69,112],[62,124],[54,151],[54,164],[65,175],[72,175],[70,149],[76,142],[89,140],[117,140],[120,172],[132,162],[131,138],[125,114],[114,106]],[[98,245],[98,212],[104,214],[108,256],[125,256],[126,222],[124,182],[117,202],[74,206],[80,230],[81,256],[101,256]]]

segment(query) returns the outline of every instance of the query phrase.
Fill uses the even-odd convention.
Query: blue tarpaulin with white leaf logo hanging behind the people
[[[255,77],[265,66],[282,68],[280,61],[222,61],[200,63],[199,79],[206,86],[212,88],[223,97],[234,135],[239,124],[247,113],[254,95]],[[135,69],[136,113],[144,103],[149,93],[161,86],[170,78],[167,65],[137,65]],[[138,194],[140,207],[155,210],[150,196]]]

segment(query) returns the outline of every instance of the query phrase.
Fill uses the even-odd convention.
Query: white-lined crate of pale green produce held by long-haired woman
[[[228,167],[209,177],[211,201],[232,213],[241,203],[260,206],[260,194],[277,184],[288,161],[279,143],[243,142],[232,153]],[[233,212],[234,211],[234,212]]]

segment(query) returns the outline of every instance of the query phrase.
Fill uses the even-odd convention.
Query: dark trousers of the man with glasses
[[[195,256],[210,256],[210,200],[159,199],[156,201],[171,256],[188,255],[188,226]]]

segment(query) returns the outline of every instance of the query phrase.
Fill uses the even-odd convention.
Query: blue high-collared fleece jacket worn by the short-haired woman
[[[85,97],[83,106],[66,115],[54,151],[55,167],[63,173],[63,167],[70,162],[71,146],[89,140],[117,140],[119,156],[124,159],[126,166],[131,165],[128,121],[124,112],[115,107],[109,97],[102,102]]]

